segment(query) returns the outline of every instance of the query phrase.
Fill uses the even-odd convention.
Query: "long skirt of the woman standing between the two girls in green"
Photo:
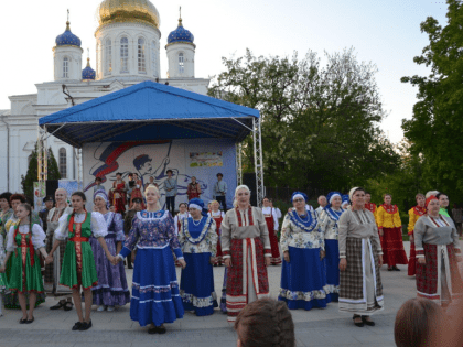
[[[53,243],[56,239],[54,238],[54,231],[49,235],[46,242],[46,251],[50,251],[53,248]],[[66,251],[67,240],[61,241],[58,248],[53,254],[53,262],[45,265],[45,275],[44,275],[44,288],[47,295],[54,296],[56,300],[64,300],[72,297],[73,292],[63,285],[60,285],[60,275],[61,268],[63,264],[64,252]]]

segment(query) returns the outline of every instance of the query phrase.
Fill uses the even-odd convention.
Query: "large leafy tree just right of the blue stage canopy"
[[[315,53],[299,59],[223,58],[209,95],[259,109],[268,185],[348,189],[394,172],[399,156],[379,130],[386,117],[373,64],[358,63],[354,50]],[[251,138],[244,163],[254,169]]]

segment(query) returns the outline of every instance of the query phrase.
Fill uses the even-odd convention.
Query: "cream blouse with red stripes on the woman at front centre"
[[[224,259],[232,258],[232,239],[248,239],[260,237],[263,243],[263,256],[271,257],[269,231],[266,218],[258,207],[229,209],[220,225],[222,252]]]

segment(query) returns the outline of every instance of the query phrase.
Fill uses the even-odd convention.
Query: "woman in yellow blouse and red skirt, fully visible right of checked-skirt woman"
[[[400,271],[397,264],[408,264],[407,254],[403,250],[402,223],[399,208],[391,205],[392,196],[385,194],[384,204],[376,210],[376,223],[378,224],[384,252],[384,263],[388,264],[388,271]]]

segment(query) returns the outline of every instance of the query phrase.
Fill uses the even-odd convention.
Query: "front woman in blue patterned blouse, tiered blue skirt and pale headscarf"
[[[165,334],[164,323],[173,323],[184,314],[179,293],[172,251],[182,268],[186,267],[173,218],[161,209],[155,186],[148,186],[147,209],[138,212],[122,250],[115,259],[121,261],[137,247],[133,267],[130,317],[140,326],[151,324],[149,334]]]

